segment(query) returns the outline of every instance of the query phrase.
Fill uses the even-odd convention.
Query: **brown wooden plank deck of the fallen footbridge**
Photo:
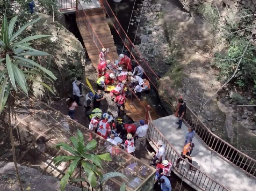
[[[106,14],[103,8],[77,11],[76,23],[80,30],[87,53],[94,68],[97,70],[99,64],[99,53],[101,48],[109,48],[107,58],[109,60],[117,59],[118,54],[111,34]],[[98,38],[97,38],[98,37]],[[138,121],[145,117],[146,102],[139,102],[136,98],[131,102],[128,100],[125,104],[126,115],[133,121]],[[151,116],[157,119],[159,116],[154,109],[151,109]]]

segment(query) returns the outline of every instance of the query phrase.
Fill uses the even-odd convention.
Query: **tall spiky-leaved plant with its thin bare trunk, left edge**
[[[41,83],[43,86],[48,88],[50,91],[51,88],[45,83],[34,79],[31,74],[36,76],[45,76],[48,75],[48,79],[56,80],[57,78],[54,74],[42,67],[38,63],[34,62],[32,59],[29,59],[30,56],[48,56],[48,53],[38,51],[32,47],[31,40],[48,37],[49,35],[34,35],[28,36],[21,39],[20,34],[31,24],[37,22],[40,18],[35,19],[31,22],[26,23],[19,30],[14,32],[15,23],[17,17],[13,17],[8,24],[6,11],[4,13],[2,27],[1,27],[1,38],[0,38],[0,114],[3,110],[3,107],[8,100],[8,111],[9,111],[9,130],[10,138],[12,143],[12,152],[13,152],[13,161],[15,164],[16,175],[19,181],[20,190],[23,191],[20,176],[18,173],[18,167],[15,156],[14,140],[12,134],[11,126],[11,114],[10,107],[14,103],[14,99],[8,99],[9,95],[14,97],[18,89],[28,95],[28,85],[27,80],[32,80]],[[25,57],[26,56],[26,57]],[[18,88],[18,87],[19,88]],[[52,91],[53,92],[53,91]],[[10,97],[10,98],[11,98]]]

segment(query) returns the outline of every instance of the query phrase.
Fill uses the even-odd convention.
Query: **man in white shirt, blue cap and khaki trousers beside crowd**
[[[140,120],[140,126],[137,128],[133,138],[135,139],[136,150],[139,150],[140,144],[144,147],[146,144],[146,134],[148,125],[145,124],[144,120]]]

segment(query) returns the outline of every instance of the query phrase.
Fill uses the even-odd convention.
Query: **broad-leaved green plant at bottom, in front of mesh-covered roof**
[[[58,149],[62,147],[62,149],[65,149],[72,154],[72,156],[57,156],[56,158],[54,158],[56,166],[58,166],[61,162],[70,161],[68,172],[65,174],[65,176],[62,177],[60,181],[61,191],[64,191],[69,179],[71,179],[70,182],[81,182],[81,187],[83,191],[82,182],[84,181],[87,183],[87,180],[82,177],[82,169],[86,173],[87,179],[89,181],[89,183],[87,183],[88,189],[89,185],[91,185],[93,188],[97,186],[96,175],[99,177],[100,190],[103,190],[104,182],[111,177],[120,176],[126,178],[126,176],[118,172],[110,172],[104,175],[101,174],[99,169],[103,170],[101,165],[102,160],[112,161],[112,159],[110,157],[110,153],[105,153],[101,155],[90,154],[91,150],[94,150],[97,147],[96,140],[92,140],[87,145],[84,145],[84,137],[79,129],[77,129],[77,137],[71,137],[70,140],[73,146],[70,146],[63,142],[56,144],[56,147]],[[77,167],[79,168],[80,175],[79,178],[73,179],[72,176]],[[125,188],[125,186],[122,186],[121,189],[123,189],[123,187]]]

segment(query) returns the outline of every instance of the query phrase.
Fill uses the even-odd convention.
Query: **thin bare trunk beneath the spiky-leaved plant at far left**
[[[8,99],[8,117],[9,117],[10,138],[11,138],[11,143],[12,143],[12,156],[13,156],[13,162],[14,162],[14,166],[15,166],[15,170],[16,170],[16,176],[17,176],[17,179],[19,181],[20,190],[23,191],[22,183],[21,183],[20,176],[19,176],[18,166],[17,166],[16,155],[15,155],[15,147],[14,147],[14,140],[13,140],[13,133],[12,133],[12,123],[11,123],[10,109],[11,109],[11,99],[9,98]]]

